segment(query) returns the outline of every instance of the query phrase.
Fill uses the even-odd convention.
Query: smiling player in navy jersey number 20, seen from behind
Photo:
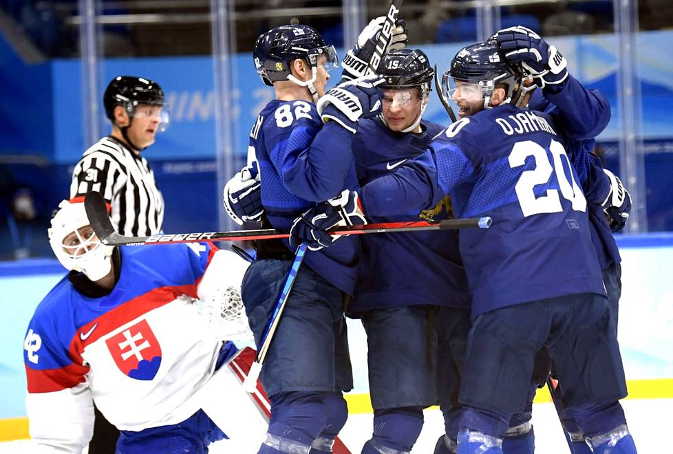
[[[562,82],[564,58],[552,47],[544,57],[547,69],[538,76]],[[367,184],[361,204],[364,213],[389,207],[392,214],[430,208],[449,193],[456,217],[493,218],[489,230],[460,231],[473,325],[460,385],[467,409],[458,453],[502,452],[511,415],[526,406],[535,353],[543,345],[594,452],[633,453],[618,401],[626,396],[626,380],[587,199],[559,125],[510,103],[520,80],[520,68],[507,63],[495,41],[460,50],[445,87],[461,119],[426,153]]]

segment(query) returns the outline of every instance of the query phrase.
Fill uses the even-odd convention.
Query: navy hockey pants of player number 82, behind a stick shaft
[[[241,296],[258,348],[290,266],[288,260],[257,260],[243,279]],[[261,383],[270,398],[287,391],[353,387],[343,294],[308,266],[297,273],[261,369]]]

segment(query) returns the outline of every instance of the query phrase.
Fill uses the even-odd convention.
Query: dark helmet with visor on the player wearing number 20
[[[509,102],[522,79],[521,69],[511,65],[496,41],[486,41],[463,47],[451,61],[451,67],[444,73],[442,89],[449,93],[449,78],[478,85],[484,105],[500,84],[506,85],[506,100]]]

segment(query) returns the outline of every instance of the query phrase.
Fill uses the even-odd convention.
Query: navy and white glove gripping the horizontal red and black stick
[[[358,202],[358,193],[345,189],[338,197],[307,210],[292,224],[290,246],[296,248],[306,243],[310,250],[320,250],[332,246],[341,237],[348,237],[332,236],[328,231],[341,226],[367,224]]]

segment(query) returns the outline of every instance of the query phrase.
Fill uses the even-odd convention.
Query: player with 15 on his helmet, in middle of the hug
[[[344,64],[344,69],[345,76],[353,76],[352,67]],[[383,111],[377,118],[361,120],[352,141],[361,185],[423,153],[444,129],[422,119],[434,74],[423,51],[391,50],[377,72],[386,82]],[[420,214],[412,210],[369,219],[419,217],[449,219],[449,197]],[[349,305],[367,334],[374,408],[373,435],[362,452],[408,452],[423,428],[423,409],[438,401],[438,381],[447,417],[451,394],[458,393],[456,369],[462,363],[469,329],[469,290],[458,254],[458,234],[365,235],[362,241],[358,283]]]

